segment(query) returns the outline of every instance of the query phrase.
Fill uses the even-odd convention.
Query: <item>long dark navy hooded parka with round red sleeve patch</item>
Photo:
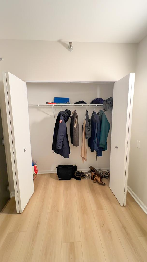
[[[56,154],[60,154],[65,158],[69,158],[70,154],[70,147],[66,127],[66,122],[68,121],[70,114],[71,111],[68,109],[58,113],[52,142],[52,150],[54,150]]]

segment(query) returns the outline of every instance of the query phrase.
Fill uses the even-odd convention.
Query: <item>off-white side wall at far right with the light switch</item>
[[[137,148],[137,140],[140,148]],[[128,186],[147,206],[147,36],[139,43],[133,101]]]

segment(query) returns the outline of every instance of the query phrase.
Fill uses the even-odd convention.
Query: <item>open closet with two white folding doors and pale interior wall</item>
[[[134,78],[135,74],[130,73],[115,83],[22,81],[9,72],[3,73],[17,213],[23,211],[34,192],[32,159],[37,161],[40,173],[55,173],[60,164],[76,164],[81,171],[88,171],[89,166],[110,168],[110,189],[119,203],[126,205]],[[96,160],[96,152],[90,152],[87,143],[87,162],[83,164],[80,151],[85,111],[87,109],[91,117],[94,110],[97,113],[103,109],[98,105],[89,106],[91,100],[110,96],[113,97],[113,112],[110,108],[105,112],[110,123],[108,150]],[[69,97],[70,105],[46,105],[54,97]],[[73,105],[80,100],[88,105]],[[70,143],[69,159],[52,151],[56,117],[65,109],[76,110],[79,119],[80,145],[74,147]],[[69,128],[70,119],[67,122],[70,141]]]

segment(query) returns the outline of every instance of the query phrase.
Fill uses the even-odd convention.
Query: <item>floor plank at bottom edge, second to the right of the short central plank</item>
[[[107,262],[128,262],[107,210],[93,211]]]

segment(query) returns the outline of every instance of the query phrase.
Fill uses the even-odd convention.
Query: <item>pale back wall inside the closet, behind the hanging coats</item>
[[[54,101],[55,96],[69,97],[70,103],[73,104],[77,101],[84,100],[90,103],[96,97],[102,97],[104,100],[113,96],[113,84],[27,84],[28,103],[46,103]],[[67,108],[62,108],[65,110]],[[55,154],[52,151],[52,139],[54,134],[54,127],[58,112],[61,108],[54,108],[55,118],[52,108],[38,108],[29,107],[29,121],[30,121],[30,134],[31,134],[31,150],[32,158],[38,164],[39,172],[56,172],[56,166],[67,164],[77,165],[78,169],[89,170],[89,166],[99,168],[110,167],[110,146],[111,146],[111,128],[108,135],[108,150],[103,152],[103,157],[98,157],[96,161],[96,152],[91,152],[87,145],[87,162],[82,162],[80,157],[81,142],[82,142],[82,125],[85,119],[86,108],[68,108],[71,112],[76,109],[79,119],[79,139],[80,145],[74,147],[70,142],[70,118],[67,122],[67,130],[70,144],[69,159]],[[102,108],[103,109],[103,108]],[[93,107],[87,108],[89,117],[94,110]],[[96,108],[96,112],[99,108]],[[111,125],[112,112],[109,109],[105,112],[108,121]]]

